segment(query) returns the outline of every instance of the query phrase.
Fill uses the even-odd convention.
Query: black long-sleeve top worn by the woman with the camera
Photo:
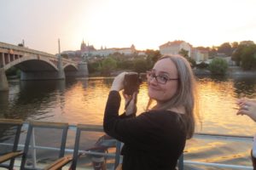
[[[111,91],[105,109],[104,131],[123,142],[123,170],[172,170],[182,154],[186,132],[172,111],[148,111],[119,116],[120,95]]]

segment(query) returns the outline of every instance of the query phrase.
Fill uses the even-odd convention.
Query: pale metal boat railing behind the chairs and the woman
[[[23,123],[23,127],[26,129],[28,127],[28,122]],[[69,125],[68,130],[76,131],[77,127],[75,125]],[[93,126],[93,128],[90,129],[92,132],[102,132],[103,129],[102,126]],[[34,139],[34,135],[32,133],[32,139]],[[252,142],[253,137],[251,136],[239,136],[239,135],[224,135],[224,134],[210,134],[210,133],[195,133],[194,137],[195,139],[218,139],[218,140],[227,140],[227,141],[238,141],[238,142]],[[2,145],[10,145],[6,143],[0,143]],[[79,150],[80,154],[84,155],[95,155],[95,156],[105,156],[105,157],[112,157],[115,160],[115,163],[119,163],[122,160],[122,156],[120,156],[120,148],[121,148],[121,143],[117,141],[117,144],[119,147],[117,147],[117,150],[115,153],[100,153],[96,151],[90,151],[90,150]],[[24,144],[19,144],[19,148],[24,148]],[[60,150],[58,148],[54,147],[45,147],[45,146],[38,146],[32,145],[30,146],[32,150]],[[73,149],[66,149],[66,153],[73,153]],[[34,154],[35,152],[32,152],[32,164],[33,167],[36,167],[37,165],[37,157]],[[189,161],[189,160],[184,160],[183,156],[179,158],[179,162],[177,164],[179,170],[183,170],[184,165],[198,165],[198,166],[205,166],[205,167],[219,167],[219,168],[230,168],[230,169],[250,169],[252,170],[253,167],[250,166],[240,166],[240,165],[232,165],[232,164],[224,164],[224,163],[212,163],[212,162],[203,162],[203,161]],[[19,165],[15,164],[15,167],[19,167]],[[116,167],[116,165],[114,165]],[[113,168],[114,168],[113,167]]]

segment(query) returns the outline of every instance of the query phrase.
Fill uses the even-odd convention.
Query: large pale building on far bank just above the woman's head
[[[166,42],[160,45],[160,54],[168,55],[168,54],[179,54],[179,52],[184,49],[189,52],[189,57],[191,56],[192,46],[188,42],[184,41],[174,41],[174,42]]]

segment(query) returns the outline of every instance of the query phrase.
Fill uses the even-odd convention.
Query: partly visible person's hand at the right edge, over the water
[[[253,99],[238,99],[237,105],[240,109],[237,111],[237,115],[247,115],[256,122],[256,100]]]

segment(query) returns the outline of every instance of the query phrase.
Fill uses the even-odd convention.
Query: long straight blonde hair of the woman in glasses
[[[166,55],[160,59],[171,59],[174,65],[176,65],[177,76],[179,78],[178,88],[177,93],[174,94],[171,99],[162,105],[155,105],[153,110],[169,110],[173,107],[183,105],[186,112],[186,118],[182,119],[182,116],[180,116],[180,118],[182,119],[181,121],[187,130],[187,139],[190,139],[195,132],[195,77],[193,71],[187,59],[183,58],[182,56]],[[149,99],[148,106],[146,108],[147,111],[149,110],[149,106],[151,104],[152,99]]]

